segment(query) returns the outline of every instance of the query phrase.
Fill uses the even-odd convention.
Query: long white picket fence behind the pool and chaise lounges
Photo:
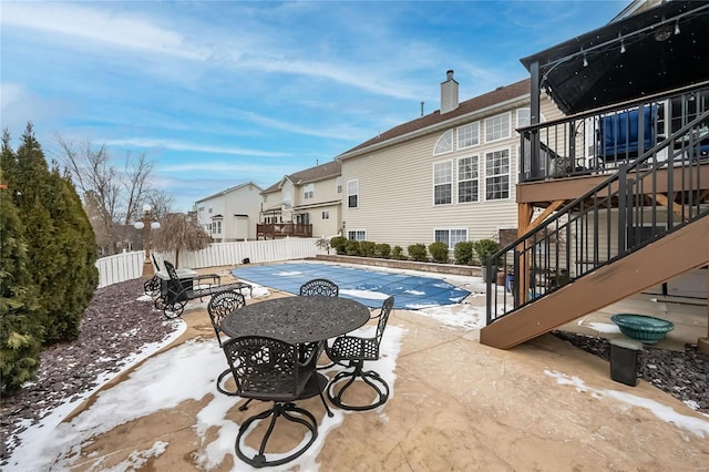
[[[238,243],[215,243],[196,253],[181,252],[179,268],[199,269],[204,267],[234,266],[249,259],[253,264],[278,260],[302,259],[321,253],[316,246],[317,238],[285,238],[248,240]],[[175,261],[174,253],[155,253],[158,264],[167,259]],[[122,253],[96,260],[99,287],[141,277],[145,253],[142,250]]]

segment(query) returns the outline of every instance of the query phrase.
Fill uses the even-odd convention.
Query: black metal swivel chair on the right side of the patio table
[[[389,384],[373,370],[363,370],[364,361],[378,360],[381,339],[387,328],[389,315],[394,306],[394,297],[389,297],[382,304],[381,310],[372,316],[377,319],[377,334],[373,338],[362,338],[357,336],[339,336],[335,338],[332,345],[326,343],[325,350],[330,360],[335,363],[348,362],[348,368],[338,372],[328,384],[328,398],[330,401],[345,410],[371,410],[382,406],[389,399]],[[377,398],[369,404],[352,404],[342,399],[343,393],[361,379],[366,384],[377,392]],[[343,386],[341,383],[345,382]]]

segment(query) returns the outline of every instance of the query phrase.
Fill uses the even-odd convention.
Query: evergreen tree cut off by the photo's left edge
[[[2,137],[2,168],[13,165],[9,134]],[[37,287],[27,269],[22,223],[12,204],[12,185],[0,171],[0,393],[19,389],[40,366],[42,326]]]

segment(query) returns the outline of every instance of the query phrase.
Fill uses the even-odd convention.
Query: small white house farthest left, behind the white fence
[[[263,188],[253,182],[195,203],[197,220],[215,243],[256,239]]]

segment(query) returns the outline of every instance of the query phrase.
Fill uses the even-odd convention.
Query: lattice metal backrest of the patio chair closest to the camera
[[[309,374],[301,374],[298,348],[279,339],[243,336],[224,342],[237,394],[259,400],[296,400]]]

